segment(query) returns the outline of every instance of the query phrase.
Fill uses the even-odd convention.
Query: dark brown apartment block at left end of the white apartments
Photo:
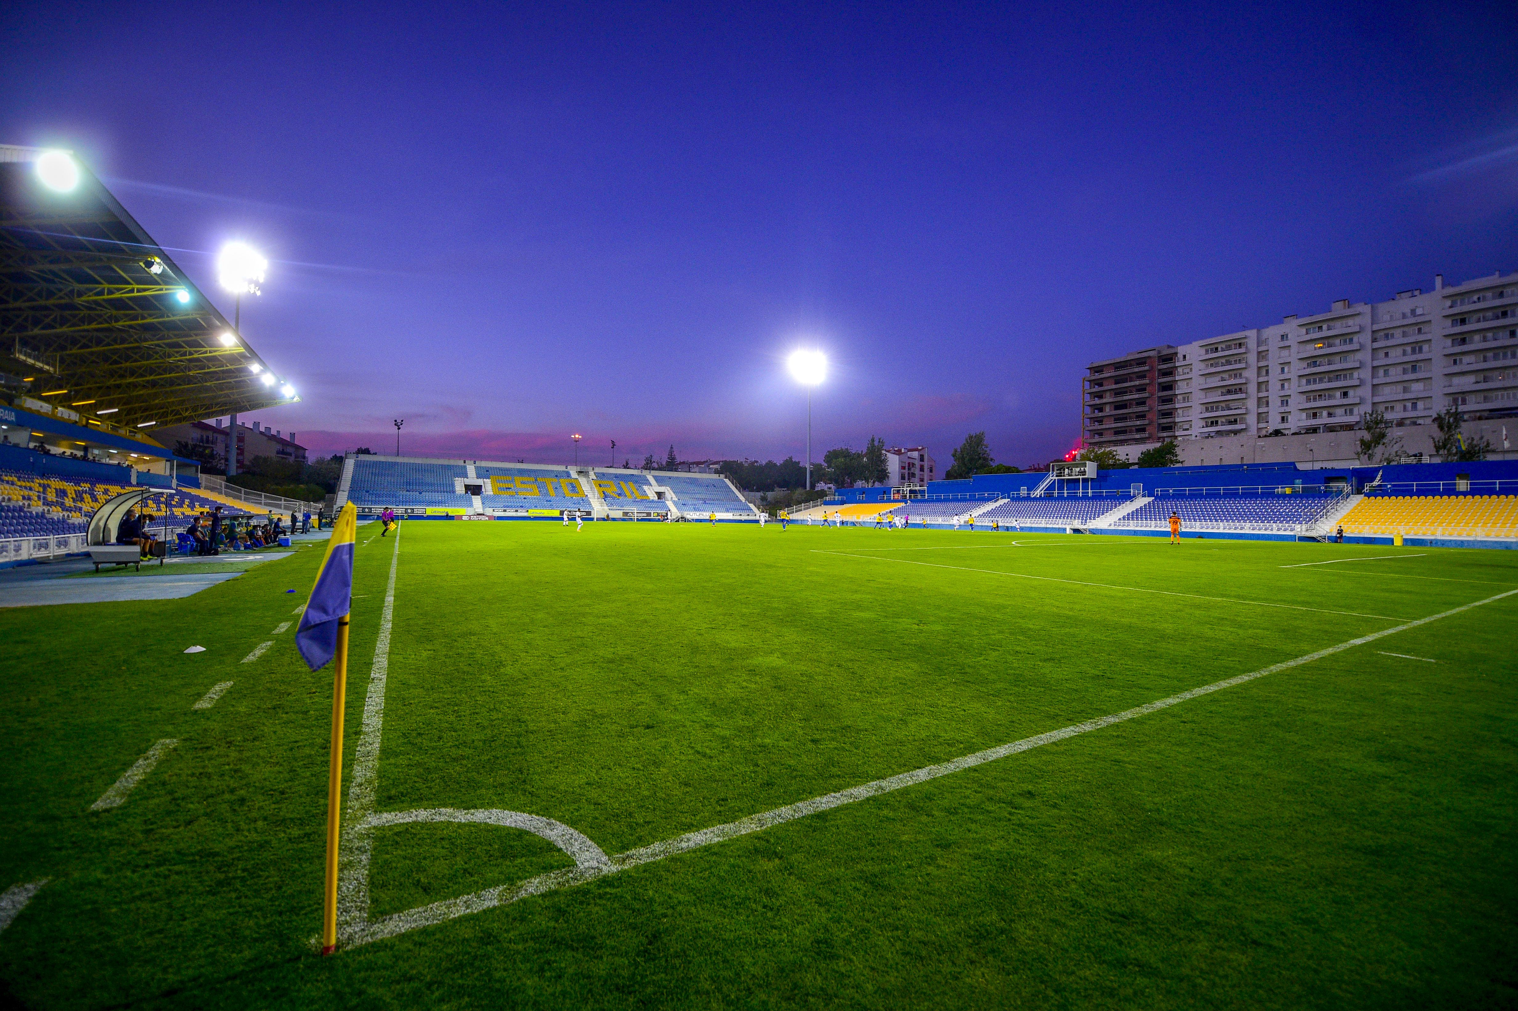
[[[1176,367],[1173,345],[1088,364],[1081,390],[1084,445],[1110,446],[1173,437]]]

